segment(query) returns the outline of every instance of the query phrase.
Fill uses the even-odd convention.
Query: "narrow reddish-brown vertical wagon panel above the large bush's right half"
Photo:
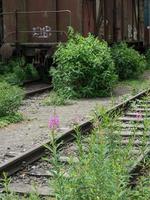
[[[82,14],[83,14],[83,35],[87,35],[89,32],[95,33],[95,18],[96,18],[96,1],[95,0],[83,0]]]

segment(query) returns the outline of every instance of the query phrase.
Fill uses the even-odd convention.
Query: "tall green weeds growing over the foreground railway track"
[[[142,178],[133,190],[128,186],[128,168],[133,164],[133,155],[130,153],[134,136],[129,145],[121,145],[121,138],[116,133],[114,124],[116,121],[100,111],[103,121],[99,123],[95,117],[95,128],[92,134],[83,142],[78,126],[76,129],[77,158],[79,162],[74,163],[70,157],[67,167],[68,175],[65,176],[64,164],[59,161],[58,145],[56,145],[53,132],[52,146],[48,149],[53,153],[51,160],[53,165],[53,187],[56,200],[149,200],[149,182]],[[146,127],[147,130],[148,127]],[[146,141],[145,141],[146,142]],[[86,151],[85,151],[86,145]],[[142,150],[144,152],[144,149]],[[131,159],[132,158],[132,159]],[[131,162],[132,160],[132,162]],[[9,193],[7,179],[4,181],[6,194],[1,195],[2,200],[19,199],[13,193]],[[7,184],[5,184],[7,183]],[[7,189],[8,188],[8,189]],[[24,197],[23,199],[37,200],[40,197]],[[49,198],[48,198],[49,199]]]

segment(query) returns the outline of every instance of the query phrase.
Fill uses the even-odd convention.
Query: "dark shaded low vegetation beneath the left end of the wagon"
[[[12,59],[0,63],[0,81],[11,85],[22,85],[25,80],[38,78],[38,73],[32,64],[25,64],[24,58]]]

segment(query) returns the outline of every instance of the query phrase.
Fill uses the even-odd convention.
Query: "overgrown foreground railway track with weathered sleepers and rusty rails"
[[[134,134],[131,156],[132,165],[129,168],[129,173],[131,174],[130,182],[135,185],[135,180],[138,178],[140,170],[143,168],[142,163],[146,157],[149,157],[150,155],[150,89],[141,92],[107,111],[110,115],[117,112],[121,113],[117,118],[117,121],[119,122],[119,125],[117,126],[119,126],[119,135],[121,137],[122,147],[128,145]],[[98,117],[101,120],[101,116]],[[145,131],[145,124],[148,123],[149,126]],[[92,121],[87,121],[80,125],[81,133],[84,135],[83,144],[85,151],[87,149],[87,133],[90,133],[92,128]],[[57,137],[57,143],[63,142],[59,150],[59,160],[60,162],[65,163],[63,169],[66,171],[66,173],[64,173],[65,176],[68,176],[67,164],[70,155],[73,158],[73,162],[78,162],[76,156],[77,147],[74,143],[74,133],[75,131],[72,129],[65,133],[60,133]],[[3,172],[12,177],[12,183],[10,184],[10,189],[12,191],[19,194],[29,193],[32,191],[33,182],[35,182],[37,185],[37,191],[40,195],[54,195],[53,188],[52,186],[49,186],[48,183],[48,180],[53,178],[53,174],[50,173],[52,165],[42,159],[45,155],[49,157],[51,156],[45,148],[45,145],[47,144],[50,145],[50,141],[47,141],[45,144],[39,145],[38,147],[31,149],[21,156],[18,156],[0,166],[0,177],[3,176]],[[1,191],[2,190],[3,188],[1,188]]]

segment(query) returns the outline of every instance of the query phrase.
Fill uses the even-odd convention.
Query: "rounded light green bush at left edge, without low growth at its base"
[[[0,117],[15,113],[21,105],[22,99],[22,89],[6,82],[0,82]]]

